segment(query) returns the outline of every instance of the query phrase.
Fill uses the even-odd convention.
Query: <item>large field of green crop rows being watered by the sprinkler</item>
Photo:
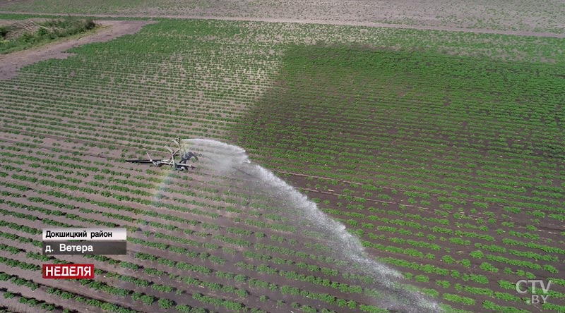
[[[1,80],[0,307],[565,311],[562,39],[154,22]],[[177,136],[189,173],[124,161]],[[45,256],[49,227],[126,227],[129,252]],[[69,262],[95,279],[41,278]]]

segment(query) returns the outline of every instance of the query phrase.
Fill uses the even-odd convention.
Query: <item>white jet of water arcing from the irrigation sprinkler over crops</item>
[[[399,271],[371,259],[359,239],[349,233],[343,223],[324,214],[316,203],[273,172],[252,163],[241,147],[207,139],[187,139],[182,140],[182,144],[201,152],[203,165],[207,165],[215,176],[230,180],[232,186],[239,182],[250,192],[268,196],[270,206],[278,207],[277,213],[288,216],[299,231],[321,233],[321,239],[335,259],[356,266],[364,275],[373,278],[374,288],[383,294],[383,300],[376,300],[374,305],[397,312],[441,311],[439,304],[428,296],[404,288]]]

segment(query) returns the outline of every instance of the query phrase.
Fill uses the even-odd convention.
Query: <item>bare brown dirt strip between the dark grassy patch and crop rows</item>
[[[114,38],[129,35],[141,30],[143,25],[151,22],[143,20],[96,20],[102,29],[93,34],[76,39],[63,39],[61,41],[45,44],[33,49],[16,51],[0,56],[0,80],[7,80],[17,75],[18,70],[24,66],[47,59],[66,59],[73,54],[66,50],[80,47],[93,42],[107,42]]]

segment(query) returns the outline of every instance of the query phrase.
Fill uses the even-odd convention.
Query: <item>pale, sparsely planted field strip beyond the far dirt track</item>
[[[187,0],[11,0],[0,11],[80,13],[103,16],[260,18],[317,20],[321,23],[384,23],[423,27],[565,32],[565,4],[545,1],[344,0],[344,1],[187,1]]]

